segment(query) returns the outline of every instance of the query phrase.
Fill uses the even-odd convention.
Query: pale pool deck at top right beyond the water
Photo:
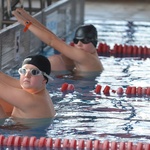
[[[85,20],[150,21],[150,1],[85,0]]]

